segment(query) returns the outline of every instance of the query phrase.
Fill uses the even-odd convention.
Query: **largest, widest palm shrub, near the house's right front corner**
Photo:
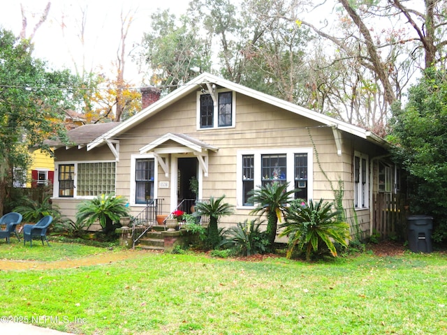
[[[310,260],[311,251],[318,251],[323,242],[328,246],[330,253],[337,257],[334,243],[345,248],[351,239],[349,225],[338,221],[339,210],[332,210],[332,202],[313,202],[309,200],[300,204],[293,202],[288,211],[286,222],[281,225],[284,230],[280,236],[288,236],[287,258],[291,258],[295,247],[305,251],[306,260]]]

